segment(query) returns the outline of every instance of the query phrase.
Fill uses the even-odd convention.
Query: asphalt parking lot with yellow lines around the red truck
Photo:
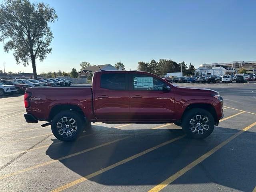
[[[204,140],[174,124],[103,124],[64,143],[26,123],[23,95],[0,98],[0,191],[256,191],[256,83],[210,88],[224,118]]]

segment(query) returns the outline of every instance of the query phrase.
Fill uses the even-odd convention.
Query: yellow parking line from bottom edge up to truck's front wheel
[[[170,144],[170,143],[172,143],[172,142],[174,142],[174,141],[176,141],[176,140],[179,140],[179,139],[183,138],[184,136],[185,136],[185,135],[176,137],[176,138],[171,139],[171,140],[168,140],[168,141],[166,141],[166,142],[164,142],[164,143],[162,143],[162,144],[159,144],[159,145],[156,145],[156,146],[154,146],[154,147],[152,147],[152,148],[149,148],[149,149],[147,149],[147,150],[144,150],[144,151],[142,151],[142,152],[140,152],[140,153],[138,153],[138,154],[135,154],[135,155],[133,155],[133,156],[130,156],[130,157],[124,159],[124,160],[121,160],[121,161],[119,161],[119,162],[117,162],[117,163],[114,163],[114,164],[112,164],[112,165],[110,165],[110,166],[107,166],[107,167],[105,167],[105,168],[103,168],[103,169],[101,169],[101,170],[98,170],[98,171],[96,171],[96,172],[94,172],[94,173],[92,173],[92,174],[89,174],[89,175],[84,176],[84,177],[82,177],[82,178],[80,178],[80,179],[78,179],[78,180],[75,180],[75,181],[70,182],[70,183],[68,183],[68,184],[66,184],[66,185],[64,185],[64,186],[61,186],[61,187],[59,187],[59,188],[57,188],[57,189],[55,189],[55,190],[52,190],[52,192],[63,191],[63,190],[65,190],[65,189],[67,189],[67,188],[70,188],[70,187],[76,185],[76,184],[79,184],[79,183],[81,183],[81,182],[84,182],[84,181],[86,181],[86,180],[88,180],[88,179],[90,179],[90,178],[92,178],[92,177],[95,177],[95,176],[97,176],[97,175],[100,175],[100,174],[102,174],[102,173],[108,171],[108,170],[111,170],[111,169],[113,169],[113,168],[115,168],[115,167],[117,167],[117,166],[120,166],[120,165],[122,165],[122,164],[124,164],[124,163],[127,163],[127,162],[129,162],[129,161],[131,161],[131,160],[134,160],[134,159],[136,159],[136,158],[138,158],[138,157],[140,157],[140,156],[142,156],[142,155],[144,155],[144,154],[147,154],[147,153],[149,153],[149,152],[151,152],[151,151],[153,151],[153,150],[156,150],[156,149],[158,149],[158,148],[160,148],[160,147],[162,147],[162,146],[165,146],[165,145]]]

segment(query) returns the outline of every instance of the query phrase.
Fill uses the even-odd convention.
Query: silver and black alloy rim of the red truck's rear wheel
[[[66,136],[66,137],[72,136],[77,130],[76,121],[71,117],[62,117],[57,122],[56,127],[58,129],[58,133],[61,136]]]

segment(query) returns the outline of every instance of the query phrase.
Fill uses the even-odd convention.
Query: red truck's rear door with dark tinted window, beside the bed
[[[94,74],[95,75],[95,74]],[[127,121],[129,94],[127,74],[98,72],[93,80],[94,112],[100,121]]]

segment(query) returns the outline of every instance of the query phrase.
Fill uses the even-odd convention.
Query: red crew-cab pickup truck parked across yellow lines
[[[223,99],[210,89],[174,86],[140,71],[98,71],[92,86],[34,87],[24,95],[26,122],[47,121],[62,141],[91,122],[174,123],[192,138],[209,136],[223,118]]]

